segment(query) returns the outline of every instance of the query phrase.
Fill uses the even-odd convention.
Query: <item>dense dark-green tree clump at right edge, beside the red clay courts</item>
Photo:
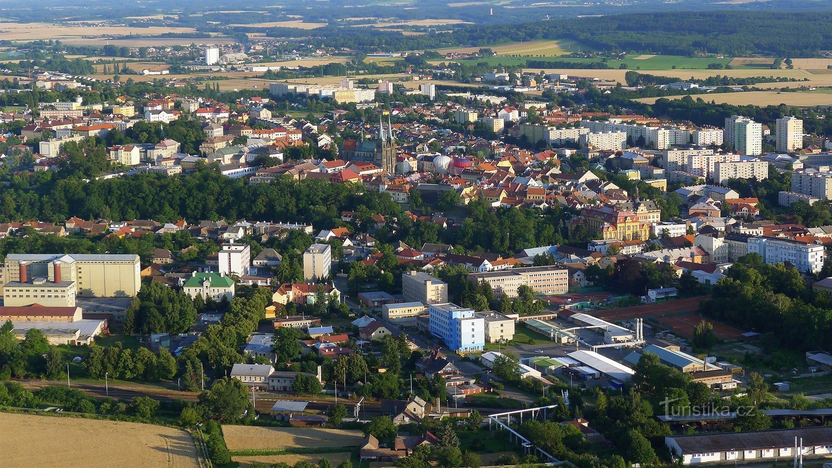
[[[758,254],[737,260],[703,301],[706,317],[764,333],[781,347],[809,351],[830,347],[832,298],[806,286],[800,272],[765,264]]]

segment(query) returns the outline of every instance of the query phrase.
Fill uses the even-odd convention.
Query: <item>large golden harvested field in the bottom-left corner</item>
[[[6,468],[199,468],[191,434],[137,422],[0,413]]]

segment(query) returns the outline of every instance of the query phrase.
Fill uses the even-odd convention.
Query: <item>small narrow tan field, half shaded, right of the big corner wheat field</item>
[[[230,451],[359,446],[361,431],[314,427],[222,426]]]

